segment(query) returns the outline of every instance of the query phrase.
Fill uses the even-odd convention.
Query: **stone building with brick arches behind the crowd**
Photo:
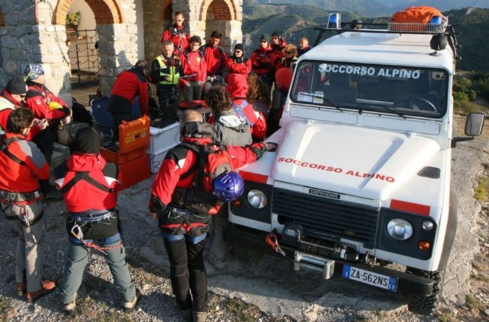
[[[176,11],[184,13],[192,35],[204,41],[213,30],[221,31],[228,53],[242,42],[242,0],[1,0],[1,88],[37,63],[45,69],[47,87],[71,102],[65,18],[75,1],[83,1],[95,17],[103,95],[119,72],[160,54],[162,32]]]

